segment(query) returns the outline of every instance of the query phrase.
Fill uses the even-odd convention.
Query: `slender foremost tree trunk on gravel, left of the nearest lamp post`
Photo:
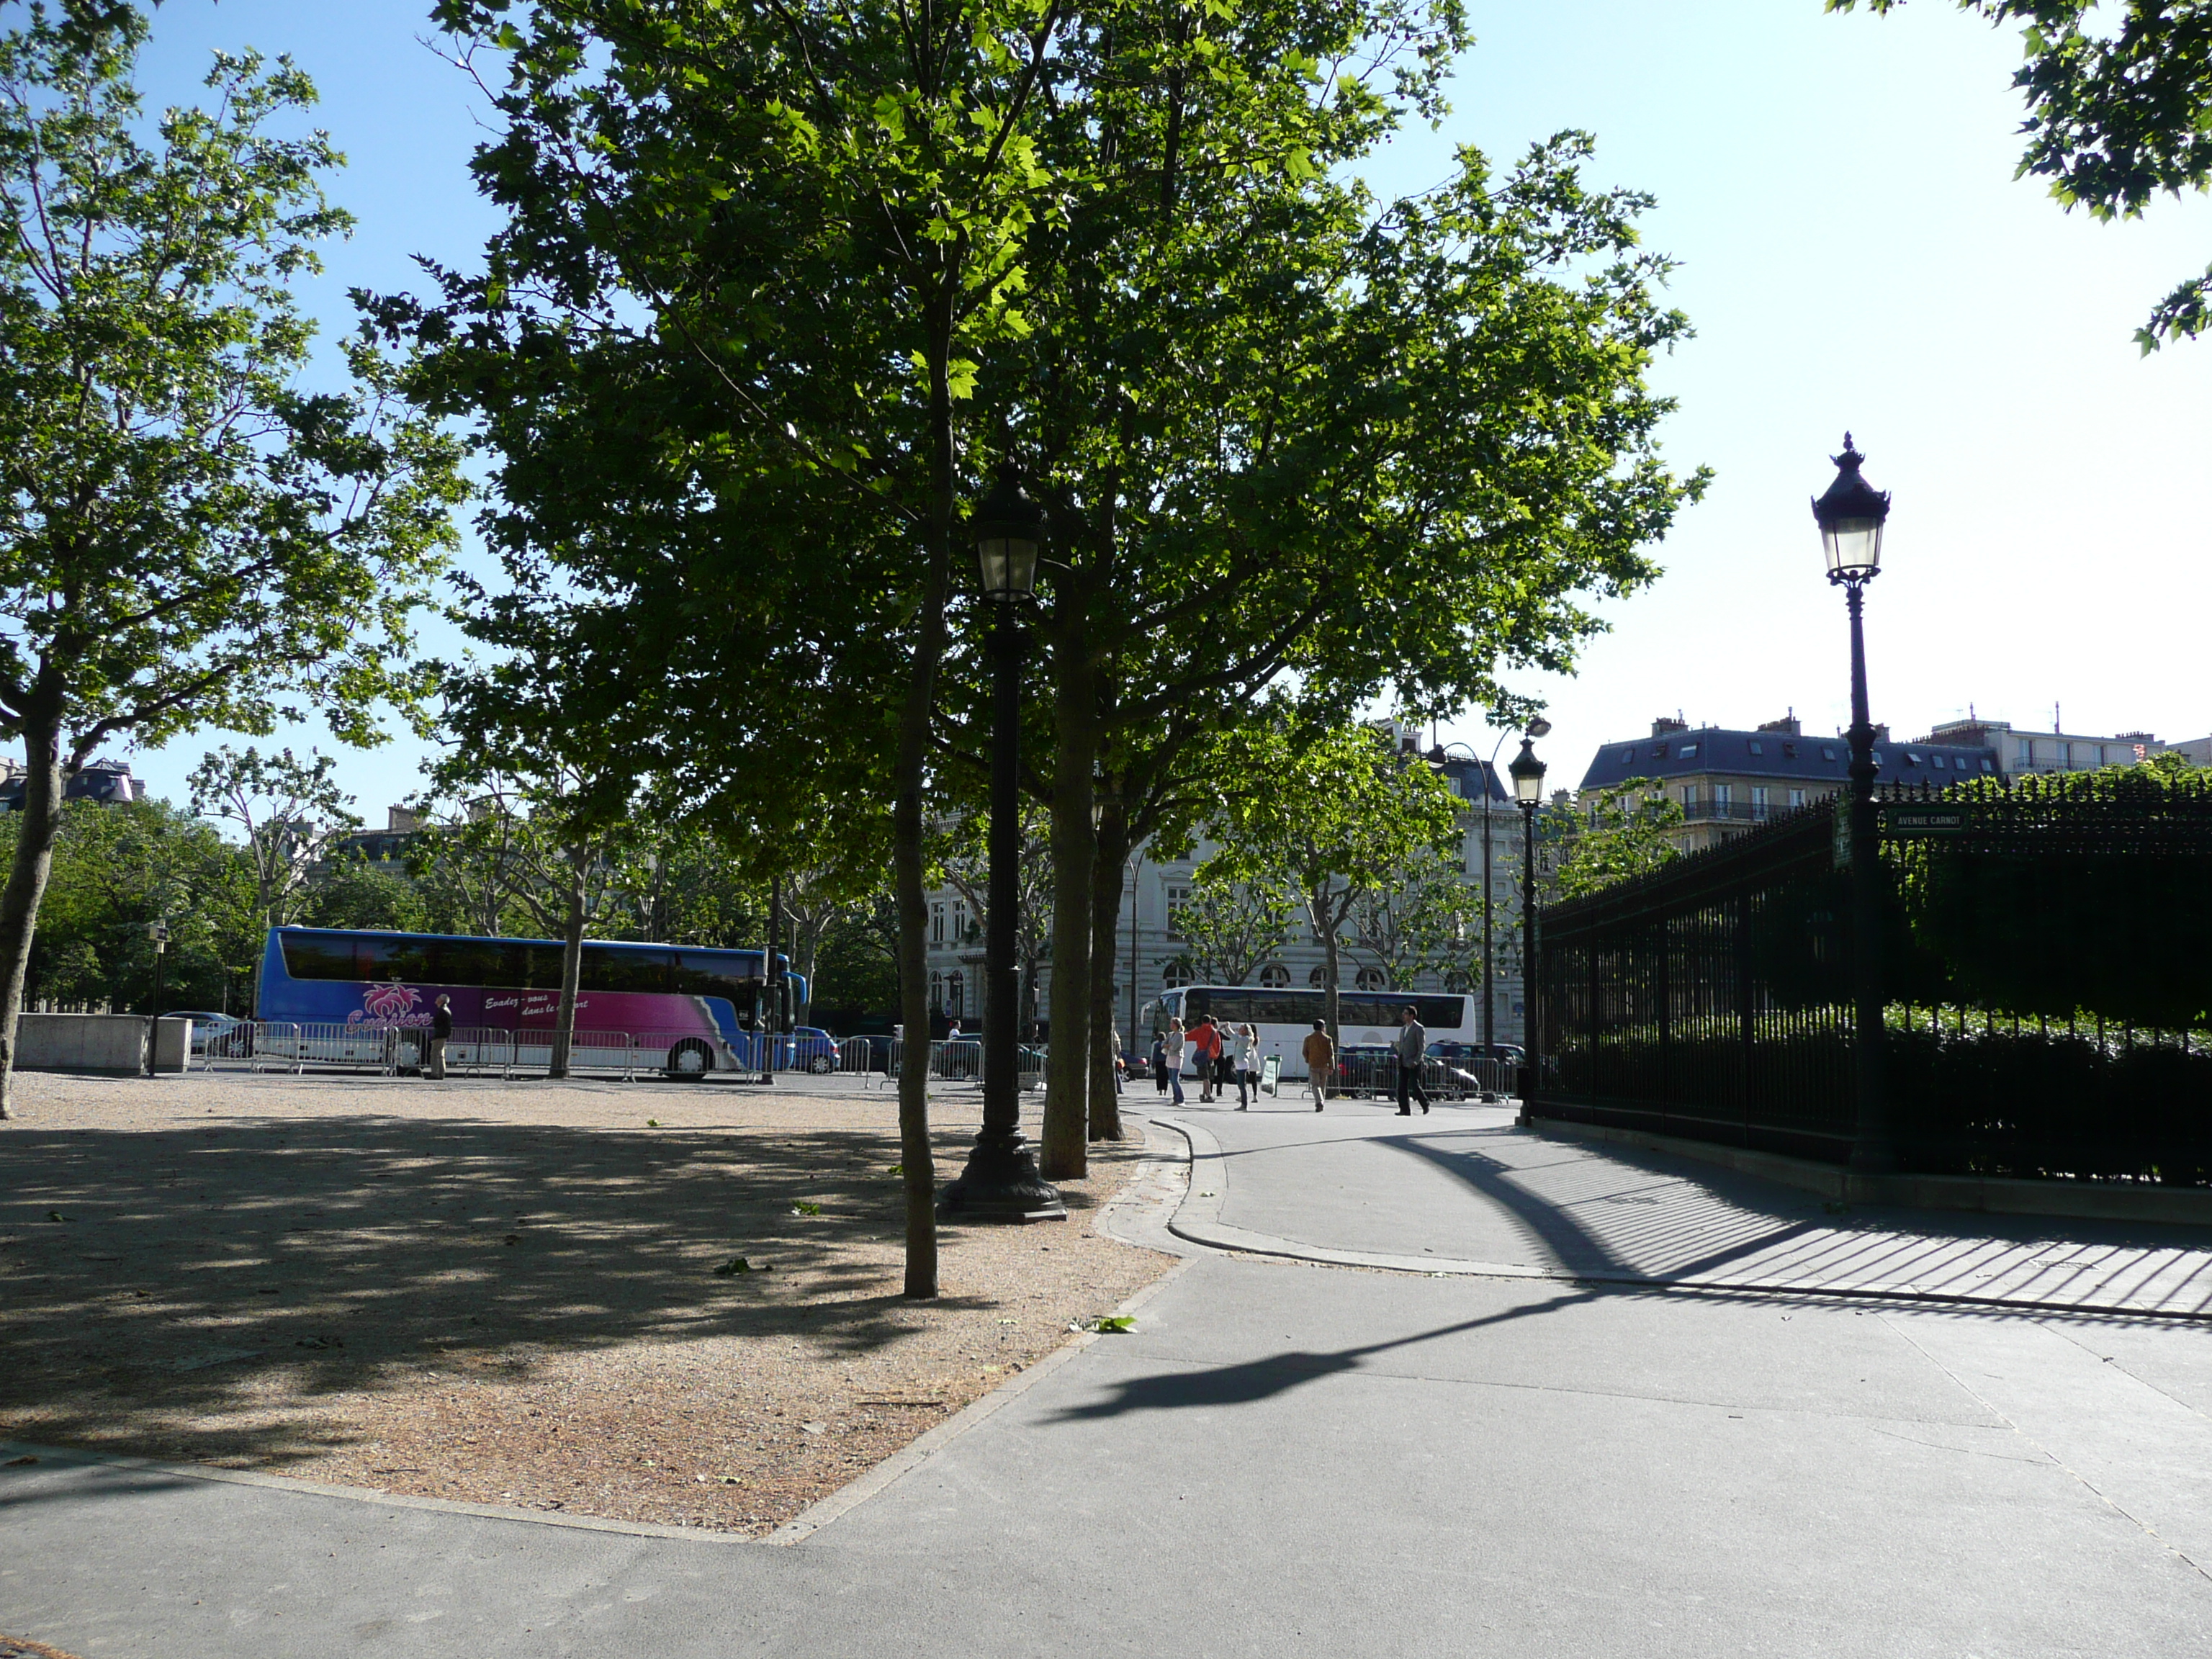
[[[938,1294],[938,1172],[929,1152],[929,896],[922,887],[922,787],[945,655],[953,546],[951,279],[929,301],[929,544],[907,706],[891,776],[891,883],[898,902],[898,1161],[907,1181],[907,1296]]]

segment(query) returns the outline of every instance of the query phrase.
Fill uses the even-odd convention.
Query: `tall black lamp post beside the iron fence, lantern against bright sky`
[[[1858,1130],[1851,1137],[1851,1168],[1889,1175],[1898,1168],[1898,1144],[1882,1095],[1882,847],[1880,814],[1874,805],[1874,719],[1867,714],[1867,639],[1860,613],[1867,584],[1882,568],[1882,524],[1889,491],[1858,476],[1867,458],[1843,434],[1836,482],[1812,504],[1827,555],[1827,580],[1843,588],[1851,613],[1851,1060],[1858,1093]]]

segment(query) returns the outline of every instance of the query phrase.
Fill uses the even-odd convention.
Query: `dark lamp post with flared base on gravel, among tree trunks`
[[[991,891],[984,914],[982,1130],[960,1179],[938,1197],[940,1217],[973,1221],[1064,1221],[1060,1190],[1037,1175],[1022,1144],[1018,1024],[1022,982],[1015,929],[1022,902],[1022,657],[1029,637],[1015,613],[1037,582],[1044,511],[1022,493],[1013,462],[971,518],[982,593],[991,608]]]

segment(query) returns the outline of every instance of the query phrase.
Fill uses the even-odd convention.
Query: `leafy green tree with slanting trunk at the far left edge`
[[[374,741],[407,703],[407,613],[460,495],[453,445],[389,400],[305,394],[288,283],[347,219],[290,62],[217,55],[212,108],[150,126],[146,18],[31,7],[0,35],[0,737],[29,779],[0,894],[0,1117],[69,776],[111,737],[265,732],[288,699]]]

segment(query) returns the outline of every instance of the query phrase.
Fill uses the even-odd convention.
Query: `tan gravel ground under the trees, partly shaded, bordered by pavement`
[[[1064,1225],[940,1228],[905,1301],[896,1102],[845,1079],[15,1088],[18,1440],[765,1533],[1172,1265],[1091,1225],[1133,1139]],[[931,1121],[942,1181],[975,1091]]]

